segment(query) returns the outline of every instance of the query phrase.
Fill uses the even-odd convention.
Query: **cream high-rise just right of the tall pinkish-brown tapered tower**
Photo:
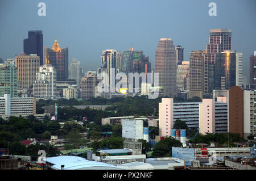
[[[177,90],[184,89],[184,78],[189,74],[189,61],[183,61],[182,64],[177,65]]]

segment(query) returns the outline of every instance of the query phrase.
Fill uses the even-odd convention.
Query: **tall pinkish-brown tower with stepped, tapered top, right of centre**
[[[159,74],[159,86],[163,87],[164,96],[174,98],[177,95],[176,72],[173,41],[169,38],[160,39],[155,52],[155,73]]]

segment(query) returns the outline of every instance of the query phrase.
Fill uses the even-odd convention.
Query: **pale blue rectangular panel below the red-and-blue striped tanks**
[[[191,166],[195,158],[195,150],[193,148],[172,147],[172,157],[185,160],[186,166]]]

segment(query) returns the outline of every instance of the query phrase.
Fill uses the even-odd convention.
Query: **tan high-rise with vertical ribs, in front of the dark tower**
[[[36,54],[15,56],[18,68],[18,89],[30,89],[35,82],[36,73],[39,72],[40,57]]]

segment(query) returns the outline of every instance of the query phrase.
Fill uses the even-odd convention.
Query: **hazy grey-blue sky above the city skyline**
[[[38,15],[38,3],[46,3],[46,16]],[[209,16],[210,2],[217,16]],[[132,45],[149,56],[154,69],[155,50],[161,37],[184,47],[185,60],[192,50],[205,49],[209,31],[232,30],[232,49],[243,53],[244,74],[256,50],[255,0],[0,0],[0,57],[23,52],[28,30],[43,30],[43,46],[69,47],[69,61],[76,58],[87,70],[100,68],[105,49],[123,51]]]

